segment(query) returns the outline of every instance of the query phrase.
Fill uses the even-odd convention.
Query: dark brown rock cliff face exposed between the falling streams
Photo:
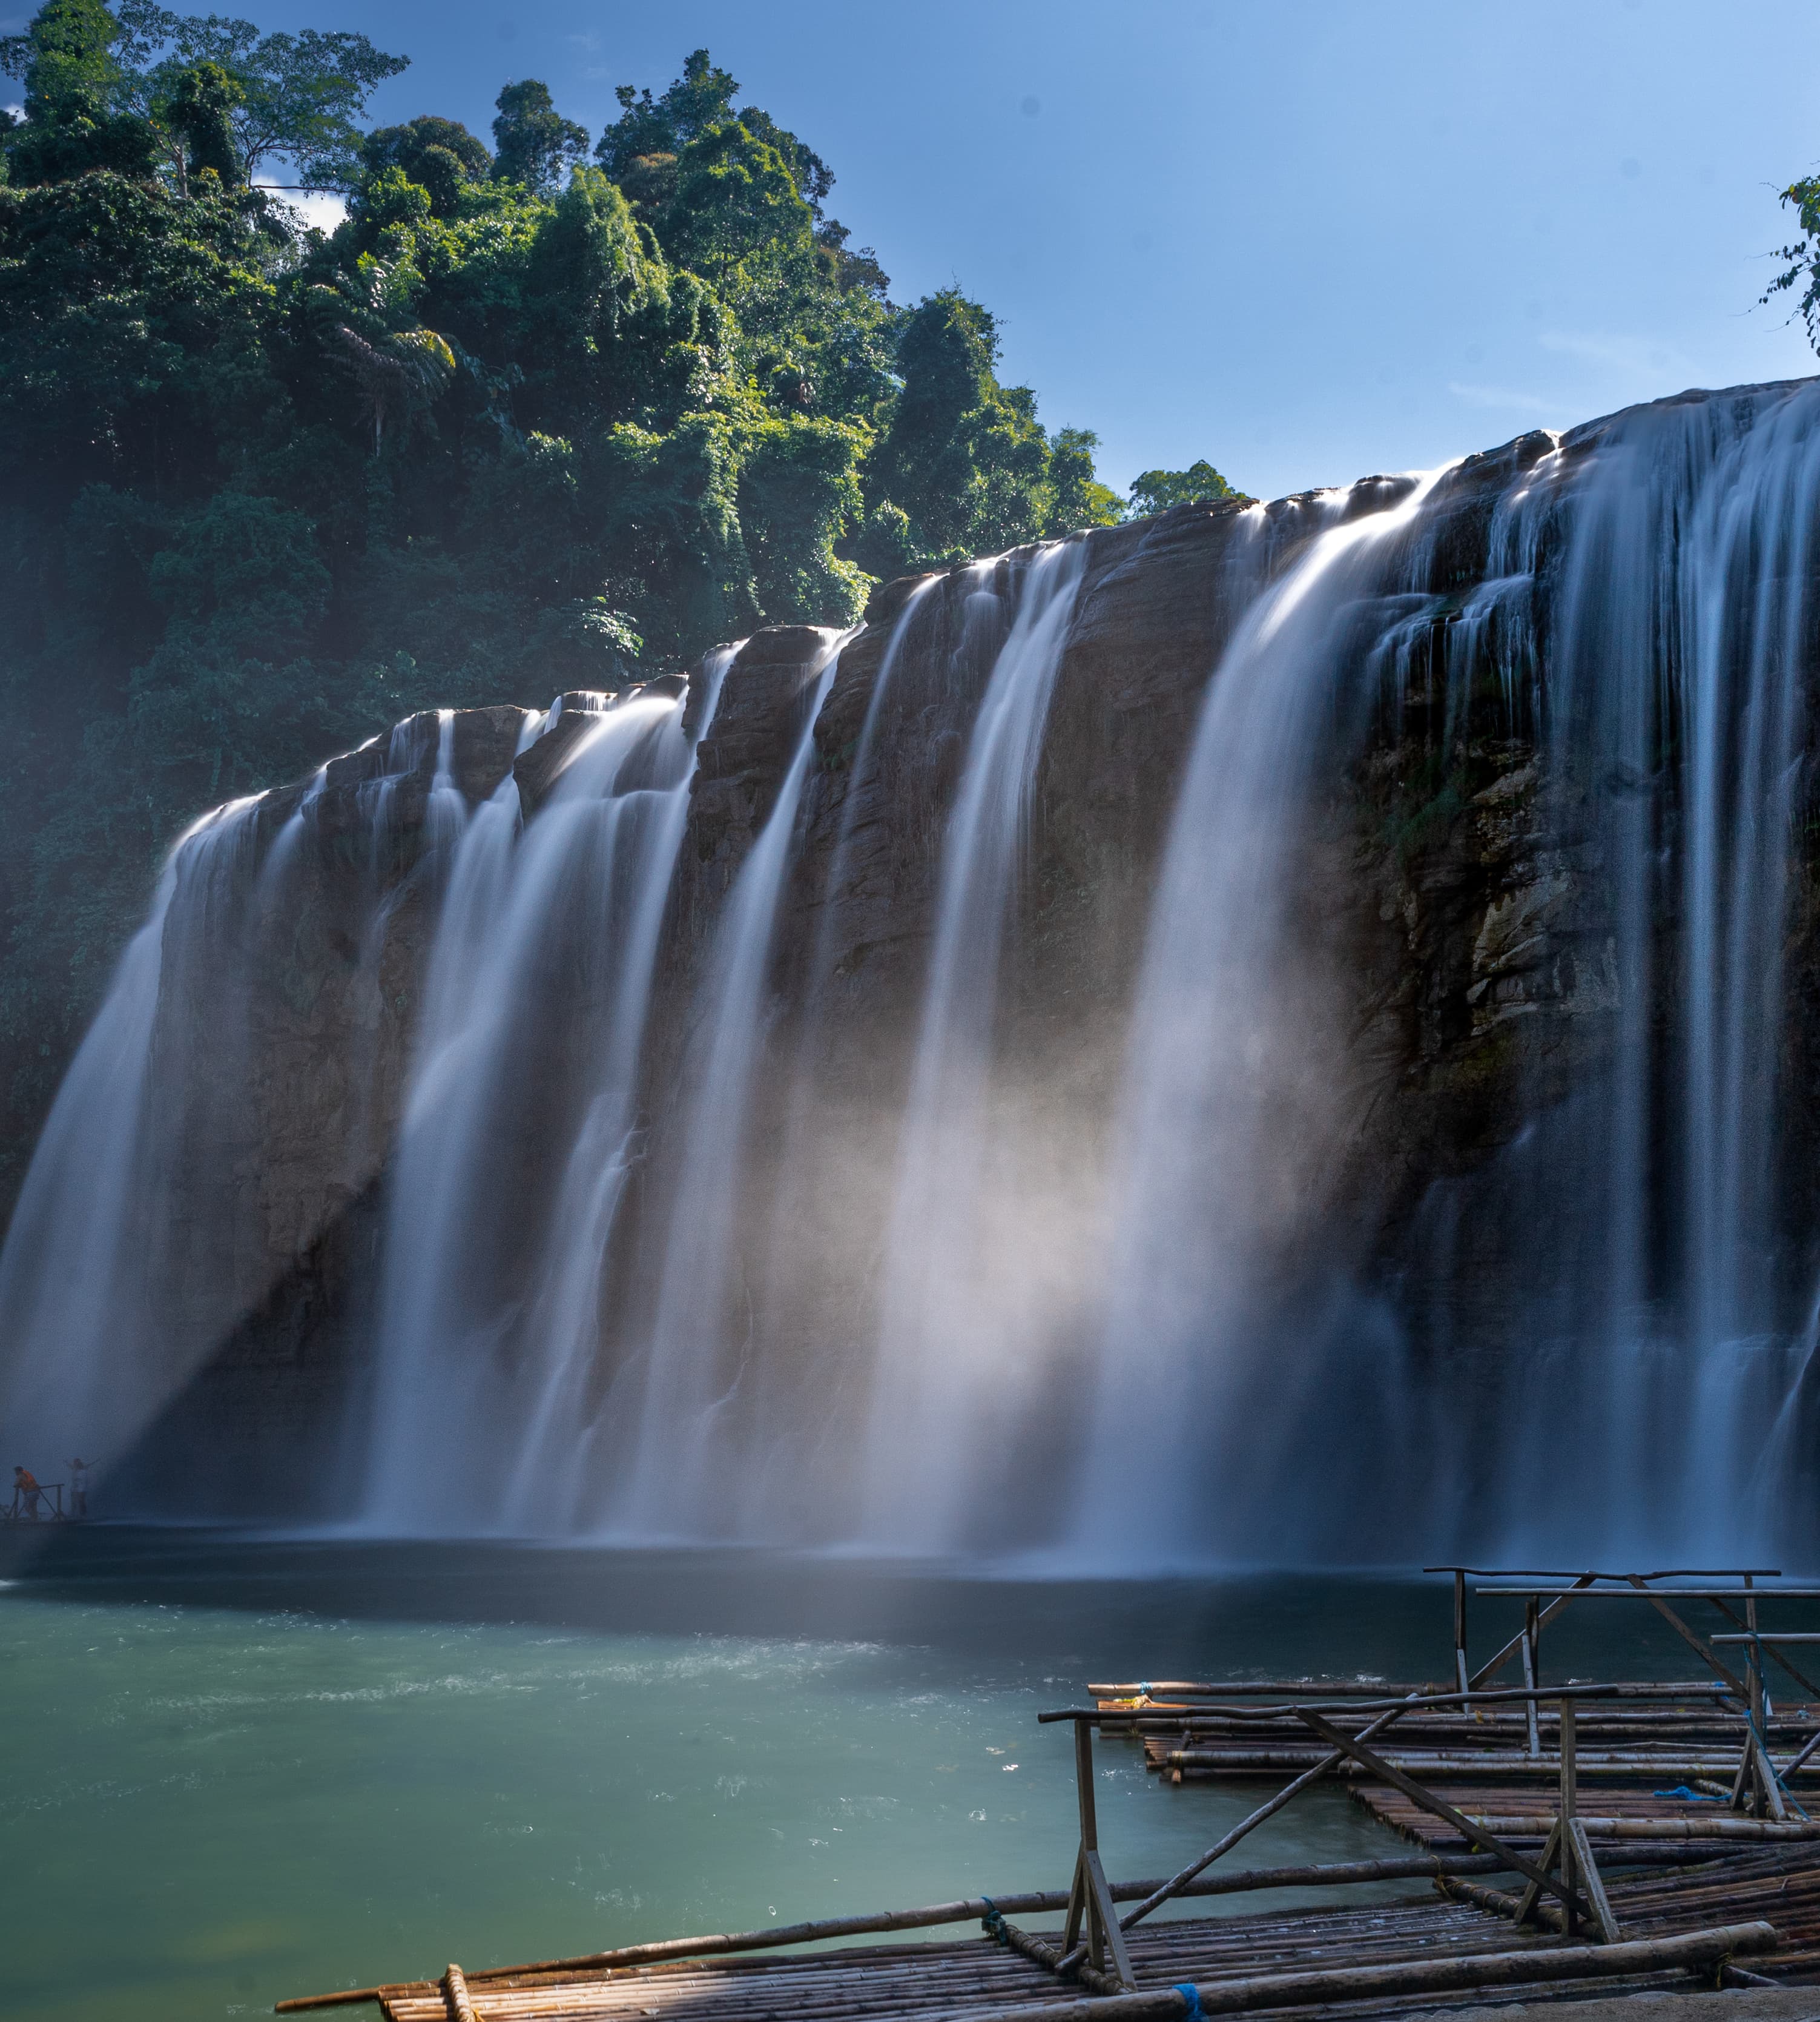
[[[1351,1033],[1349,1058],[1335,1064],[1345,1122],[1325,1148],[1325,1201],[1306,1242],[1337,1246],[1361,1282],[1383,1286],[1430,1353],[1440,1353],[1448,1312],[1498,1324],[1513,1239],[1492,1185],[1474,1211],[1456,1215],[1456,1250],[1442,1270],[1436,1201],[1462,1179],[1494,1173],[1511,1146],[1545,1132],[1598,1084],[1624,1017],[1636,1015],[1634,979],[1620,973],[1610,823],[1600,811],[1648,803],[1664,847],[1678,819],[1666,760],[1650,776],[1589,776],[1575,760],[1557,734],[1551,665],[1523,665],[1513,685],[1511,655],[1503,683],[1486,671],[1496,655],[1486,655],[1464,690],[1446,673],[1450,627],[1470,619],[1472,592],[1498,574],[1500,499],[1541,459],[1585,455],[1598,441],[1598,429],[1565,447],[1523,437],[1454,473],[1424,528],[1422,580],[1405,592],[1409,623],[1391,675],[1335,706],[1337,764],[1298,865],[1296,934],[1318,967],[1310,987],[1339,993]],[[1367,512],[1401,483],[1367,481],[1347,510]],[[1082,1153],[1104,1151],[1112,1126],[1159,859],[1203,692],[1256,590],[1260,538],[1274,544],[1268,574],[1280,576],[1312,538],[1308,501],[1181,508],[1086,542],[997,1029],[1037,1138],[1054,1132],[1045,1185],[1056,1189],[1056,1217],[1092,1211],[1062,1167],[1092,1165]],[[1535,570],[1539,599],[1549,594],[1545,562]],[[1017,552],[880,588],[813,724],[772,946],[738,1298],[768,1300],[770,1324],[831,1385],[843,1381],[866,1324],[857,1316],[876,1296],[890,1179],[876,1148],[902,1114],[944,823],[1027,566],[1029,554]],[[880,687],[906,609],[900,659]],[[1525,637],[1543,635],[1535,611],[1525,625]],[[657,956],[645,1134],[613,1235],[609,1280],[621,1284],[637,1284],[653,1223],[669,1209],[681,1090],[706,1043],[700,1005],[714,930],[777,803],[825,645],[811,629],[746,641],[706,728],[702,683],[690,690],[698,768]],[[1369,720],[1347,724],[1347,710]],[[536,823],[588,722],[588,698],[570,698],[558,724],[520,752],[522,712],[457,714],[453,783],[473,807],[516,768],[526,821]],[[259,809],[251,861],[281,847],[299,855],[281,916],[255,906],[233,977],[247,1007],[247,1098],[233,1114],[202,1106],[196,1130],[214,1151],[198,1144],[178,1179],[186,1268],[172,1326],[202,1367],[148,1434],[127,1482],[150,1504],[334,1504],[350,1476],[332,1462],[360,1464],[348,1428],[358,1428],[370,1369],[380,1197],[441,876],[427,851],[437,724],[425,722],[406,744],[417,752],[408,772],[388,778],[388,756],[374,746]],[[398,738],[392,766],[396,752]],[[305,797],[311,819],[299,829]],[[1790,855],[1784,924],[1784,1227],[1765,1231],[1792,1292],[1812,1276],[1810,1231],[1820,1225],[1820,882],[1810,843],[1806,823]],[[1664,928],[1674,906],[1664,882]],[[220,987],[216,977],[164,1005],[174,1053],[218,1017],[220,999],[208,999]],[[1678,977],[1658,969],[1646,1017],[1680,1017],[1676,993]],[[534,1110],[534,1062],[526,1102]],[[793,1157],[805,1128],[813,1161]],[[231,1146],[226,1157],[220,1146]],[[530,1181],[502,1171],[495,1185],[510,1217]],[[1460,1268],[1462,1244],[1472,1270]],[[625,1296],[613,1324],[635,1335],[639,1294]],[[186,1486],[172,1492],[172,1482]],[[200,1496],[198,1482],[208,1484]]]

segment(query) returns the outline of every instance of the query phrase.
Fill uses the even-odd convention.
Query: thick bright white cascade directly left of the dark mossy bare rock
[[[1296,934],[1298,871],[1345,671],[1361,631],[1403,617],[1407,536],[1440,475],[1316,499],[1304,552],[1252,601],[1207,690],[1114,1148],[1106,1322],[1076,1508],[1076,1537],[1096,1553],[1175,1551],[1195,1523],[1230,1549],[1248,1500],[1280,1521],[1308,1486],[1284,1452],[1308,1369],[1272,1332],[1272,1282],[1318,1215],[1347,1116],[1339,1005]],[[1270,518],[1258,508],[1246,520],[1262,574]]]

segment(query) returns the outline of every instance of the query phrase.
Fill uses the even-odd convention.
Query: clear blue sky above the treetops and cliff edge
[[[1786,0],[245,12],[366,30],[413,59],[378,117],[481,133],[508,77],[599,131],[706,44],[831,164],[894,295],[983,299],[1120,487],[1209,457],[1274,495],[1816,370],[1755,307],[1776,192],[1820,166],[1820,10]]]

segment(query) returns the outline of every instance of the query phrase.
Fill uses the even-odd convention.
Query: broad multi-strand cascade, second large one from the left
[[[708,659],[704,722],[734,651]],[[378,1529],[578,1514],[601,1270],[694,774],[681,702],[599,700],[538,819],[520,833],[508,772],[449,878],[386,1215]]]

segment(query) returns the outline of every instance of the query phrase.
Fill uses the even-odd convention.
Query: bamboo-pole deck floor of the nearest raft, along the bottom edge
[[[1759,1854],[1713,1868],[1682,1868],[1638,1880],[1614,1880],[1612,1905],[1624,1919],[1626,1939],[1741,1925],[1763,1919],[1776,1925],[1780,1945],[1751,1955],[1749,1971],[1776,1982],[1820,1982],[1820,1854],[1814,1850]],[[1254,1913],[1248,1917],[1195,1917],[1143,1925],[1130,1935],[1130,1957],[1141,1992],[1163,1992],[1183,1982],[1203,1988],[1260,1975],[1321,1971],[1325,1967],[1432,1965],[1444,1959],[1549,1953],[1579,1941],[1515,1929],[1494,1911],[1456,1901],[1418,1901],[1351,1909]],[[1383,1994],[1345,2002],[1308,2004],[1248,2000],[1250,2012],[1347,2016],[1420,2014],[1424,2008],[1460,2008],[1474,2002],[1509,2002],[1521,1988],[1525,2002],[1571,2000],[1591,1992],[1717,1984],[1717,1965],[1695,1978],[1689,1967],[1630,1975],[1581,1973],[1569,1980],[1507,1980],[1486,1990],[1444,1994]],[[989,1937],[872,1945],[847,1951],[787,1953],[768,1959],[694,1959],[647,1967],[619,1967],[568,1975],[518,1975],[487,1980],[473,1973],[467,1996],[477,2022],[578,2022],[578,2018],[688,2018],[688,2022],[807,2022],[817,2016],[868,2016],[876,2022],[926,2016],[987,2016],[1025,2006],[1068,2008],[1078,1990],[993,1943]],[[1086,2010],[1116,2014],[1122,1998],[1088,2000]],[[1185,2004],[1183,2004],[1185,2008]],[[455,2008],[437,1982],[382,1990],[388,2022],[451,2022]]]

